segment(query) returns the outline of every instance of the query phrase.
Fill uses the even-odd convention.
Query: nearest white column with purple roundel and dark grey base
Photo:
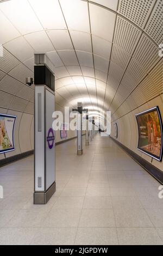
[[[55,192],[54,75],[46,54],[35,54],[34,204],[46,204]],[[39,63],[38,63],[39,62]]]

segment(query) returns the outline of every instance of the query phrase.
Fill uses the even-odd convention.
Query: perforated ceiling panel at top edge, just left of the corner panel
[[[154,3],[154,0],[120,0],[118,13],[143,28]]]

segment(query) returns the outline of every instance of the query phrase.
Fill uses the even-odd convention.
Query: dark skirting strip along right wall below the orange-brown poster
[[[143,159],[141,156],[134,153],[132,150],[124,146],[122,143],[118,142],[116,139],[110,138],[117,143],[128,155],[130,155],[137,163],[140,164],[145,170],[147,170],[148,173],[150,173],[156,180],[158,180],[161,184],[163,184],[163,172],[153,166],[151,163],[147,162],[145,159]]]

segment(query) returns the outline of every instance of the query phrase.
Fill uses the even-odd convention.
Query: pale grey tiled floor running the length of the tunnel
[[[33,156],[0,169],[2,245],[163,244],[159,182],[110,138],[56,147],[57,191],[33,205]]]

